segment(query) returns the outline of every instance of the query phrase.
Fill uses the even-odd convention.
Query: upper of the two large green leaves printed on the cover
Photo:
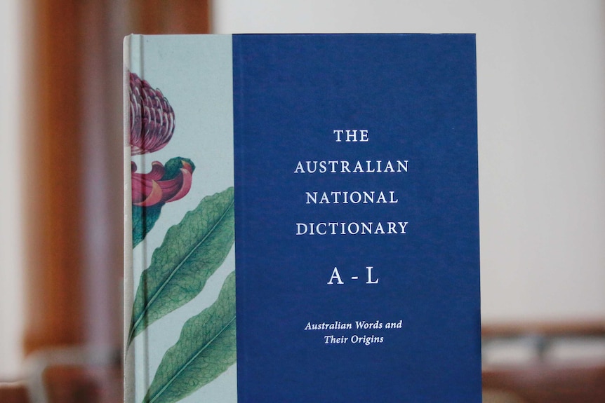
[[[168,229],[143,271],[128,344],[147,326],[191,301],[225,261],[235,239],[233,188],[208,196]]]

